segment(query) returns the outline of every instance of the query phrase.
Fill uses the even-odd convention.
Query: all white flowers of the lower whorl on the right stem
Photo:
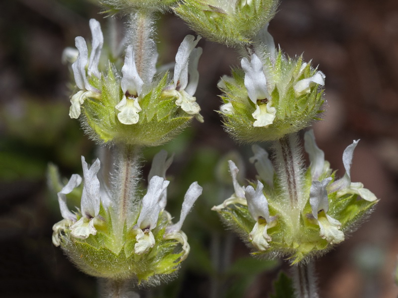
[[[314,223],[319,225],[319,236],[322,239],[326,239],[330,244],[340,243],[344,240],[344,232],[341,230],[341,223],[328,214],[329,194],[336,193],[337,198],[346,194],[356,194],[368,202],[377,200],[376,196],[364,188],[362,183],[351,182],[351,161],[358,141],[354,141],[353,144],[344,150],[343,163],[346,173],[342,178],[333,182],[331,182],[333,180],[331,177],[332,169],[329,167],[329,162],[324,159],[323,151],[316,146],[312,130],[305,133],[304,141],[304,149],[309,155],[312,181],[309,189],[309,198],[306,199],[309,199],[311,214],[306,215],[306,217],[313,219]],[[255,145],[253,146],[253,152],[254,156],[250,161],[254,162],[259,173],[259,179],[266,182],[269,187],[273,187],[275,170],[271,160],[268,158],[267,151]],[[228,205],[233,204],[247,206],[250,215],[256,221],[252,231],[249,233],[249,239],[257,249],[264,251],[270,247],[269,242],[272,240],[267,234],[267,229],[277,224],[275,219],[278,215],[274,217],[270,215],[269,200],[263,193],[264,185],[262,182],[257,180],[256,189],[253,186],[242,187],[237,182],[238,168],[231,160],[229,160],[229,169],[234,193],[222,204],[213,207],[212,210],[220,212],[227,208]],[[286,211],[284,214],[284,216],[289,215],[289,212]],[[293,218],[292,216],[292,219],[285,220],[292,221],[293,224],[295,221]]]

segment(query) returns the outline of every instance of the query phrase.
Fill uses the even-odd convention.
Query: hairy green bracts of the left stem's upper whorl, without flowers
[[[152,88],[138,98],[142,111],[139,121],[132,125],[122,124],[115,106],[121,101],[123,92],[120,79],[112,68],[101,79],[90,81],[99,89],[100,97],[88,98],[82,105],[84,129],[93,139],[112,141],[126,145],[157,146],[169,141],[181,132],[193,118],[175,104],[175,98],[162,95],[167,86],[167,74],[152,83]],[[88,125],[86,125],[86,123]]]

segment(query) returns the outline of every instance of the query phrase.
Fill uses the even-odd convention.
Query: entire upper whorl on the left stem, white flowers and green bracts
[[[140,24],[144,15],[137,13],[133,21]],[[163,77],[155,75],[158,53],[152,40],[142,49],[128,45],[120,70],[109,61],[107,65],[100,63],[103,46],[100,23],[91,19],[90,29],[93,35],[90,55],[86,40],[81,36],[75,39],[78,55],[74,57],[72,70],[77,90],[71,97],[69,116],[80,117],[82,127],[94,140],[123,146],[157,146],[179,133],[194,116],[203,121],[194,97],[202,53],[201,48],[196,48],[200,37],[184,38],[170,80],[168,72]],[[150,35],[151,30],[145,26],[134,32],[142,33],[145,29]],[[143,62],[145,67],[141,65]],[[103,69],[106,71],[101,72]]]

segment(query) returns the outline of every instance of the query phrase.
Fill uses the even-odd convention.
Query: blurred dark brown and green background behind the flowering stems
[[[88,19],[102,19],[99,11],[82,0],[0,2],[1,297],[95,295],[95,280],[79,273],[51,245],[51,226],[60,216],[56,198],[46,190],[45,171],[51,161],[69,177],[80,171],[79,156],[94,151],[77,121],[68,117],[70,74],[61,64],[61,54],[74,46],[76,36],[90,37]],[[192,32],[171,14],[158,22],[160,62],[169,63]],[[368,222],[316,261],[320,297],[397,297],[393,271],[398,255],[398,1],[282,0],[270,32],[287,54],[303,53],[326,74],[327,112],[314,127],[326,159],[342,175],[343,150],[353,139],[361,139],[351,177],[381,199]],[[216,83],[229,74],[231,65],[239,65],[239,57],[221,45],[203,40],[199,45],[203,55],[196,96],[205,122],[194,122],[184,141],[176,143],[176,176],[189,164],[192,152],[221,156],[237,149],[246,161],[250,156],[250,148],[237,146],[223,132],[213,111],[220,105]],[[248,172],[253,175],[249,165]],[[190,177],[196,179],[195,173]],[[216,203],[208,202],[210,207]],[[234,255],[247,254],[239,240],[231,243]],[[278,269],[254,279],[244,297],[267,297]],[[169,286],[177,288],[175,297],[210,297],[208,275],[187,269],[180,278],[183,282]]]

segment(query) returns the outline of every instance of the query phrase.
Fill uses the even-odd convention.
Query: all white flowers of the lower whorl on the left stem
[[[167,159],[167,152],[162,150],[154,157],[152,169],[150,171],[147,193],[142,199],[141,210],[137,223],[132,228],[136,239],[134,246],[135,254],[147,253],[155,244],[155,238],[152,230],[156,227],[161,212],[165,212],[166,206],[166,188],[169,181],[165,180],[166,170],[170,166],[171,158]],[[78,212],[71,212],[67,206],[66,195],[71,193],[74,188],[82,182],[82,177],[73,174],[69,182],[58,193],[58,202],[61,215],[64,218],[61,222],[53,226],[53,243],[56,246],[61,244],[60,231],[68,228],[73,237],[87,239],[90,235],[96,235],[96,225],[104,223],[104,219],[99,215],[100,205],[108,209],[112,207],[112,200],[109,197],[109,191],[101,189],[101,183],[97,177],[100,170],[100,160],[97,160],[89,168],[87,162],[82,156],[84,186],[81,199],[81,208]],[[166,227],[165,239],[176,239],[183,245],[185,255],[189,252],[187,236],[181,227],[185,218],[191,211],[194,203],[202,192],[202,188],[197,182],[189,187],[181,210],[180,220],[176,224],[170,224]],[[135,214],[127,214],[128,218],[136,218]],[[78,220],[79,218],[79,220]],[[128,222],[128,221],[127,221]]]

